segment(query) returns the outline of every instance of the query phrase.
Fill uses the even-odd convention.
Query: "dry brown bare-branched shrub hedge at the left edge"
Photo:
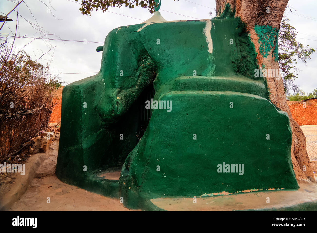
[[[0,44],[0,162],[46,129],[53,107],[52,91],[61,86],[49,67]]]

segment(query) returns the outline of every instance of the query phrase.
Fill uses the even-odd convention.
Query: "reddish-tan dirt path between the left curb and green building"
[[[58,139],[50,146],[27,191],[11,207],[13,211],[129,211],[119,199],[104,197],[61,182],[55,175]],[[50,203],[48,202],[48,197]]]

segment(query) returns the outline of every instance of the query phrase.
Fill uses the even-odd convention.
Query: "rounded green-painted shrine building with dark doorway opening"
[[[269,102],[256,68],[239,19],[113,29],[100,72],[63,88],[58,178],[132,208],[162,196],[298,188],[288,116]],[[154,100],[171,100],[171,111],[152,110],[139,140],[145,103],[137,103],[152,82]],[[223,162],[244,164],[243,175],[218,173]],[[113,167],[122,167],[119,181],[97,177]]]

